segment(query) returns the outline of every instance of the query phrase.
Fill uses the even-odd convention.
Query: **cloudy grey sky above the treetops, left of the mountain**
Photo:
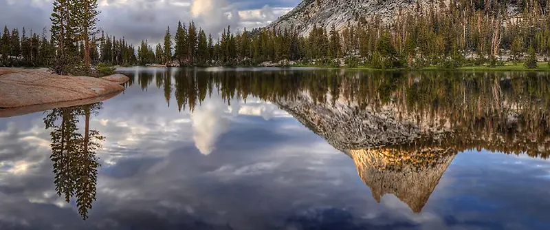
[[[41,32],[50,26],[53,0],[0,0],[0,25],[32,28]],[[194,20],[217,37],[232,28],[259,28],[291,10],[300,0],[98,0],[100,27],[132,43],[160,41],[166,27],[177,21]]]

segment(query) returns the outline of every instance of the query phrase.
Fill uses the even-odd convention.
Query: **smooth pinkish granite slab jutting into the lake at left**
[[[94,103],[122,92],[124,87],[120,84],[126,81],[129,78],[122,74],[93,78],[60,76],[47,70],[0,68],[0,116],[36,112],[40,111],[36,109],[52,106]]]

